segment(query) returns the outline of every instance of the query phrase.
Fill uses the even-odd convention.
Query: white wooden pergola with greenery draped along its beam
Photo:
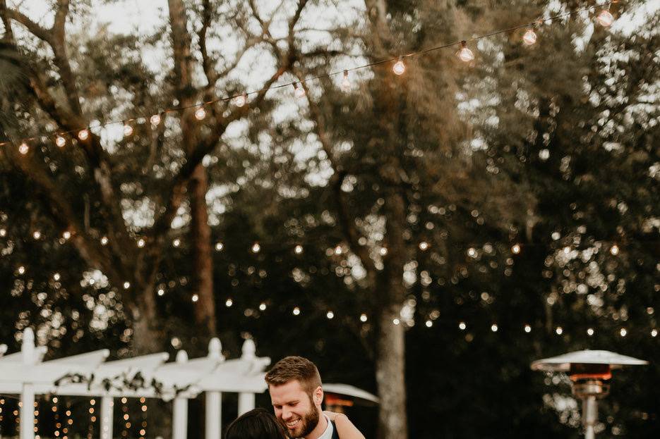
[[[256,393],[267,388],[268,357],[256,357],[252,340],[245,340],[239,359],[224,359],[220,340],[213,338],[208,356],[188,359],[185,351],[166,363],[169,354],[144,355],[105,361],[109,350],[97,350],[61,359],[42,361],[45,346],[35,346],[31,328],[23,331],[20,352],[4,355],[0,345],[0,393],[20,395],[20,425],[32,426],[35,395],[101,398],[100,437],[112,439],[115,397],[148,397],[173,400],[172,439],[186,439],[188,400],[205,392],[205,438],[220,439],[222,392],[239,394],[239,414],[254,408]],[[136,383],[126,388],[124,383]],[[35,439],[32,428],[21,428],[20,439]]]

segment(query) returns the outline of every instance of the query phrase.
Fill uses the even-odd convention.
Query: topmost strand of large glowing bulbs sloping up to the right
[[[508,27],[508,28],[502,29],[502,30],[496,30],[496,31],[493,31],[493,32],[490,32],[490,33],[487,33],[487,34],[484,34],[484,35],[479,35],[477,37],[472,37],[472,38],[469,38],[469,39],[461,39],[459,41],[450,42],[448,44],[442,44],[440,46],[429,47],[427,49],[422,49],[422,50],[419,50],[419,51],[410,52],[409,54],[405,54],[405,55],[402,55],[402,56],[395,56],[395,57],[392,57],[392,58],[382,59],[382,60],[379,60],[379,61],[373,61],[372,63],[367,63],[367,64],[364,64],[364,65],[361,65],[361,66],[354,66],[352,68],[344,68],[342,70],[338,70],[338,71],[335,71],[335,72],[325,73],[323,75],[311,76],[311,77],[304,78],[302,80],[297,80],[297,81],[294,81],[294,82],[287,82],[285,84],[280,84],[280,85],[272,85],[270,87],[254,90],[254,91],[251,91],[251,92],[240,92],[240,93],[234,94],[232,96],[220,97],[220,98],[212,99],[212,100],[206,101],[206,102],[200,102],[200,103],[191,104],[191,105],[187,105],[187,106],[177,106],[177,107],[173,107],[173,108],[170,108],[170,109],[167,109],[167,110],[164,110],[164,111],[159,111],[158,113],[155,113],[155,114],[150,113],[150,114],[143,114],[142,116],[135,116],[133,118],[129,118],[128,120],[138,120],[138,119],[143,118],[145,120],[150,120],[150,122],[153,125],[158,125],[160,123],[160,121],[162,119],[162,115],[164,115],[164,113],[181,112],[181,111],[184,111],[184,110],[187,110],[187,109],[194,109],[194,108],[198,109],[199,116],[202,115],[202,111],[204,111],[204,116],[205,116],[204,107],[208,106],[208,105],[216,104],[218,102],[231,102],[231,101],[234,101],[234,103],[236,103],[236,102],[242,103],[242,102],[244,102],[244,99],[246,100],[247,97],[250,96],[251,94],[260,94],[260,93],[269,92],[269,91],[275,90],[275,89],[282,89],[284,87],[292,87],[293,86],[294,88],[297,88],[296,85],[299,85],[301,82],[311,82],[311,81],[320,80],[320,79],[323,79],[323,78],[334,77],[334,76],[337,76],[337,75],[347,75],[348,72],[352,72],[354,70],[361,70],[361,69],[364,69],[364,68],[379,66],[380,64],[385,64],[385,63],[403,61],[405,58],[410,58],[412,56],[421,56],[421,55],[424,55],[424,54],[428,54],[429,52],[438,51],[438,50],[441,50],[441,49],[448,49],[448,48],[452,48],[452,47],[461,47],[463,42],[465,42],[465,43],[476,42],[479,39],[486,39],[486,38],[494,37],[496,35],[501,35],[501,34],[505,34],[505,33],[508,33],[508,32],[514,32],[515,30],[535,27],[535,26],[538,26],[541,23],[553,23],[557,20],[561,20],[563,18],[567,18],[567,17],[570,17],[570,16],[576,16],[576,15],[582,13],[582,12],[591,11],[591,10],[594,10],[596,8],[599,8],[601,10],[603,8],[606,8],[606,10],[608,11],[609,6],[613,3],[616,3],[616,0],[609,1],[609,2],[607,2],[605,4],[601,4],[601,5],[585,6],[584,8],[576,9],[575,11],[560,13],[556,16],[552,16],[552,17],[548,17],[548,18],[541,18],[540,20],[534,20],[534,21],[529,22],[529,23],[524,23],[522,25]],[[89,130],[91,130],[92,128],[103,128],[103,127],[106,127],[106,126],[109,126],[109,125],[119,125],[119,124],[124,125],[126,123],[126,120],[127,120],[126,118],[123,118],[121,120],[111,120],[111,121],[107,121],[107,122],[99,122],[99,123],[96,123],[94,125],[90,125],[88,127],[80,127],[80,128],[76,128],[76,129],[69,130],[69,131],[59,131],[59,132],[56,133],[55,142],[58,142],[57,139],[59,139],[59,137],[64,138],[64,135],[74,135],[75,137],[83,137],[82,140],[86,140],[89,137]],[[80,136],[81,134],[82,134],[82,136]],[[32,137],[25,137],[25,138],[23,138],[22,144],[25,144],[25,142],[38,140],[41,137],[51,137],[51,136],[52,136],[52,133],[48,134],[48,135],[35,135],[35,136],[32,136]],[[61,143],[61,140],[59,141],[58,145],[60,143]],[[5,145],[10,145],[10,144],[13,144],[13,142],[11,142],[11,141],[9,141],[9,142],[0,142],[0,147],[5,146]],[[27,144],[25,144],[25,146],[27,147]],[[23,151],[25,151],[25,153],[23,153],[23,154],[27,154],[27,152],[28,152],[28,150],[25,149],[25,148],[23,148]]]

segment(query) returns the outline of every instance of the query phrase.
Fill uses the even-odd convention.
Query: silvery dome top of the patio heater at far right
[[[571,364],[608,364],[611,369],[619,369],[623,366],[640,366],[649,364],[649,362],[617,354],[616,352],[583,350],[536,360],[532,363],[532,370],[568,372]]]

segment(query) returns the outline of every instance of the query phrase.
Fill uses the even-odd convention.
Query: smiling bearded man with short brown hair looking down
[[[302,357],[285,357],[266,373],[277,421],[291,438],[364,439],[344,414],[321,412],[323,388],[316,366]]]

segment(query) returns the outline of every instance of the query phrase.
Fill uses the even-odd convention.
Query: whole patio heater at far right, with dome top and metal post
[[[584,438],[594,439],[596,434],[594,426],[598,419],[596,400],[609,394],[608,381],[612,378],[612,370],[642,364],[649,364],[649,362],[615,352],[583,350],[536,360],[532,363],[532,370],[568,373],[573,395],[582,400]]]

